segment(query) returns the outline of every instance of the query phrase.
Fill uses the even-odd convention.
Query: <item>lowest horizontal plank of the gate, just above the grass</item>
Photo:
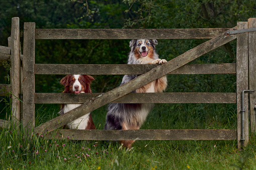
[[[236,129],[56,130],[46,138],[71,140],[234,140]]]

